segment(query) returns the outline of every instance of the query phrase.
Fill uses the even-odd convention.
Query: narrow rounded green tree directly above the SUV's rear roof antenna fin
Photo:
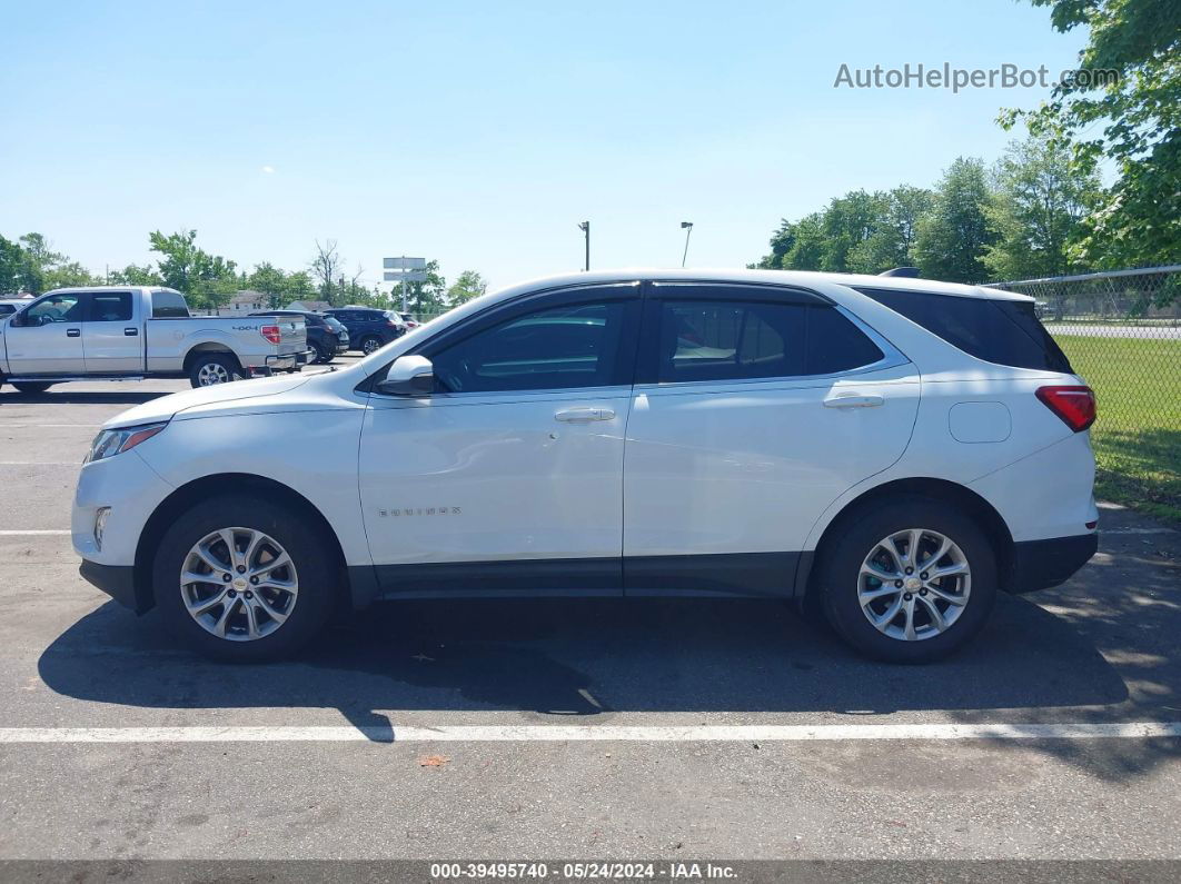
[[[988,198],[984,161],[959,157],[944,172],[914,234],[912,251],[924,276],[979,282],[987,275],[984,253],[996,238],[985,215]]]

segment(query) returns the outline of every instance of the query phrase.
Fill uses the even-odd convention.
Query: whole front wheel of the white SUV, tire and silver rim
[[[306,519],[267,500],[216,497],[183,513],[152,565],[156,605],[194,650],[227,662],[291,655],[329,622],[335,569]]]

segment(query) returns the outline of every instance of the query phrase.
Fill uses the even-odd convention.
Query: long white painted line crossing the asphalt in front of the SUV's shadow
[[[73,742],[808,742],[1181,736],[1181,721],[1074,725],[459,725],[441,727],[6,727],[2,744]]]

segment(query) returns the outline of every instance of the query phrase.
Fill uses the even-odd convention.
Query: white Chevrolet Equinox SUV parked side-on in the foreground
[[[342,371],[124,412],[73,543],[222,659],[376,600],[707,595],[929,660],[1096,549],[1095,398],[1033,307],[782,271],[517,286]]]

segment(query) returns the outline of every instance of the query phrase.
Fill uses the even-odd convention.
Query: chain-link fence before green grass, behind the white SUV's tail
[[[1098,395],[1098,492],[1181,523],[1181,264],[994,283],[1042,322]]]

